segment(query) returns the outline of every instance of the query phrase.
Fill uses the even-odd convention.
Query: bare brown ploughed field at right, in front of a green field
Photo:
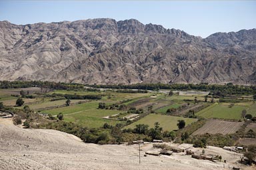
[[[243,122],[227,122],[223,120],[208,120],[203,127],[197,129],[192,135],[202,135],[205,133],[217,134],[221,133],[223,135],[229,133],[235,133],[239,128],[243,126]]]

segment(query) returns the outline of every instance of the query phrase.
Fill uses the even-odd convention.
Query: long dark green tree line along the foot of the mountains
[[[173,90],[204,90],[211,91],[219,96],[227,94],[255,94],[256,100],[256,86],[242,86],[233,85],[228,83],[226,85],[219,84],[113,84],[113,85],[86,85],[92,88],[84,88],[85,84],[77,83],[63,83],[63,82],[41,82],[41,81],[0,81],[0,88],[28,88],[40,87],[50,88],[55,90],[97,90],[95,88],[115,88],[115,89],[139,89],[139,90],[160,90],[160,89],[173,89]],[[147,92],[147,91],[140,91]]]

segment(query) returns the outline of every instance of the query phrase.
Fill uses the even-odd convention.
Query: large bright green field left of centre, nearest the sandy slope
[[[52,114],[53,116],[59,114],[60,112],[64,114],[64,121],[66,122],[77,122],[83,126],[89,128],[99,128],[103,124],[115,125],[117,123],[124,123],[115,120],[103,119],[105,116],[111,116],[114,114],[119,114],[120,111],[117,110],[100,110],[97,109],[99,102],[89,102],[85,104],[77,104],[75,106],[67,106],[63,108],[55,108],[52,110],[43,110],[43,113]]]

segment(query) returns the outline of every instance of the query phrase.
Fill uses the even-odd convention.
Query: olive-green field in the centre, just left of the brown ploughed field
[[[172,130],[178,129],[177,128],[178,120],[185,120],[186,126],[197,121],[197,119],[191,119],[191,118],[167,116],[167,115],[161,115],[161,114],[149,114],[145,118],[142,118],[141,120],[138,120],[137,122],[134,122],[129,126],[126,126],[125,129],[135,128],[137,124],[147,124],[149,125],[150,128],[153,128],[155,122],[159,122],[160,127],[162,127],[163,130],[172,131]]]

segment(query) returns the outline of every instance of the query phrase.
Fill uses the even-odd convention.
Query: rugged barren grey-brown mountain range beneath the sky
[[[256,84],[256,29],[202,39],[135,19],[2,21],[0,80]]]

